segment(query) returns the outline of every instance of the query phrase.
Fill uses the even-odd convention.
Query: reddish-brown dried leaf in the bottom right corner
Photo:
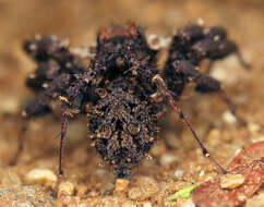
[[[264,182],[264,142],[255,143],[242,150],[232,159],[228,171],[230,174],[242,175],[243,183],[233,188],[223,188],[223,178],[218,176],[193,190],[193,202],[200,207],[235,207],[251,197]]]

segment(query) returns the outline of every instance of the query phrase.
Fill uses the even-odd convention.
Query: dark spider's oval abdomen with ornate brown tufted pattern
[[[115,81],[106,90],[107,95],[89,112],[89,137],[117,175],[127,178],[130,169],[149,150],[158,126],[152,105],[136,97],[131,83]]]

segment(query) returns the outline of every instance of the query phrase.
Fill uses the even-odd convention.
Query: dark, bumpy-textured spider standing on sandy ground
[[[63,173],[63,141],[69,119],[75,113],[87,114],[88,137],[96,150],[113,167],[118,178],[128,178],[131,168],[155,142],[158,119],[168,104],[191,130],[203,155],[226,173],[176,104],[190,82],[195,83],[195,90],[200,93],[221,92],[218,81],[199,71],[202,60],[213,62],[236,52],[248,68],[224,28],[200,25],[180,28],[172,38],[161,72],[157,69],[159,50],[151,49],[144,29],[133,23],[100,29],[95,57],[86,66],[80,64],[80,56],[55,37],[27,40],[24,50],[36,61],[37,69],[26,80],[36,97],[22,115],[31,120],[51,112],[51,100],[59,100],[61,105],[60,174]],[[13,163],[22,148],[21,138]]]

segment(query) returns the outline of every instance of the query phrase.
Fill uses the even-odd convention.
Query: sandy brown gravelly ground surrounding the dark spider
[[[94,44],[100,26],[128,21],[146,26],[147,34],[160,36],[201,21],[205,25],[225,26],[252,69],[243,70],[236,56],[230,56],[214,64],[212,75],[221,81],[238,114],[248,124],[236,121],[217,94],[202,96],[187,92],[180,105],[205,146],[224,167],[245,146],[264,141],[262,0],[1,0],[0,20],[0,206],[56,204],[60,179],[43,179],[33,184],[35,181],[26,174],[33,169],[49,169],[57,174],[58,114],[29,123],[19,163],[8,166],[17,147],[22,124],[17,114],[33,97],[24,81],[35,64],[21,45],[35,34],[55,34],[68,37],[72,46],[88,46]],[[116,184],[111,170],[91,146],[86,118],[71,122],[62,181],[70,183],[68,190],[72,187],[69,193],[72,196],[63,197],[64,206],[187,206],[183,198],[168,202],[168,197],[184,186],[214,178],[217,171],[203,158],[178,115],[171,113],[168,119],[173,130],[160,135],[149,155],[134,169],[129,186]],[[264,188],[254,196],[259,195],[264,195]],[[255,206],[254,196],[244,205]]]

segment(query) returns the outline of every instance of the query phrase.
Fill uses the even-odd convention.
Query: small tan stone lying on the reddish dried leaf
[[[220,178],[221,188],[236,188],[244,183],[244,176],[242,174],[224,174]]]

